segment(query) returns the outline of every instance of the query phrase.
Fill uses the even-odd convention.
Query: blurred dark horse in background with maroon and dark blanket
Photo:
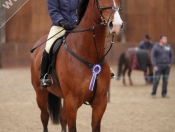
[[[130,85],[133,85],[131,79],[132,70],[144,72],[145,81],[151,84],[153,81],[153,67],[151,64],[151,51],[138,48],[129,48],[120,55],[118,62],[117,79],[123,77],[123,84],[126,85],[125,73],[128,71]]]

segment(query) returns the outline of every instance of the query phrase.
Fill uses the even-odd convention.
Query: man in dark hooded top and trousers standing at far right
[[[162,97],[167,96],[168,77],[171,65],[174,62],[173,50],[167,42],[167,36],[162,35],[160,37],[160,42],[157,43],[152,49],[151,62],[155,71],[152,91],[153,97],[156,95],[157,86],[161,75],[163,75]]]

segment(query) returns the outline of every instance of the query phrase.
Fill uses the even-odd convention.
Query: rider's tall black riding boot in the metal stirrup
[[[46,52],[46,50],[44,50],[40,66],[41,89],[46,89],[48,86],[51,86],[53,84],[52,79],[48,78],[47,74],[48,66],[49,66],[49,54]]]

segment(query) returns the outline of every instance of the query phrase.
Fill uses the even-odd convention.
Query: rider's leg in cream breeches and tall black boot
[[[58,33],[61,30],[63,30],[62,27],[52,26],[47,39],[51,38],[52,36],[54,36],[56,33]],[[40,82],[41,82],[42,89],[47,88],[47,86],[52,85],[51,79],[47,78],[47,76],[46,76],[48,66],[49,66],[49,52],[50,52],[50,48],[51,48],[52,44],[55,42],[55,40],[58,39],[59,37],[62,37],[64,34],[65,34],[65,30],[63,30],[59,34],[55,35],[54,37],[52,37],[51,39],[49,39],[46,42],[46,47],[45,47],[45,50],[43,52],[43,56],[42,56],[42,60],[41,60],[41,68],[40,68],[41,69]]]

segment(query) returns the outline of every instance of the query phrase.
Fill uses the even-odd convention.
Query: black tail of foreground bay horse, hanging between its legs
[[[59,124],[61,113],[61,98],[53,95],[50,92],[48,94],[48,111],[53,124]]]

